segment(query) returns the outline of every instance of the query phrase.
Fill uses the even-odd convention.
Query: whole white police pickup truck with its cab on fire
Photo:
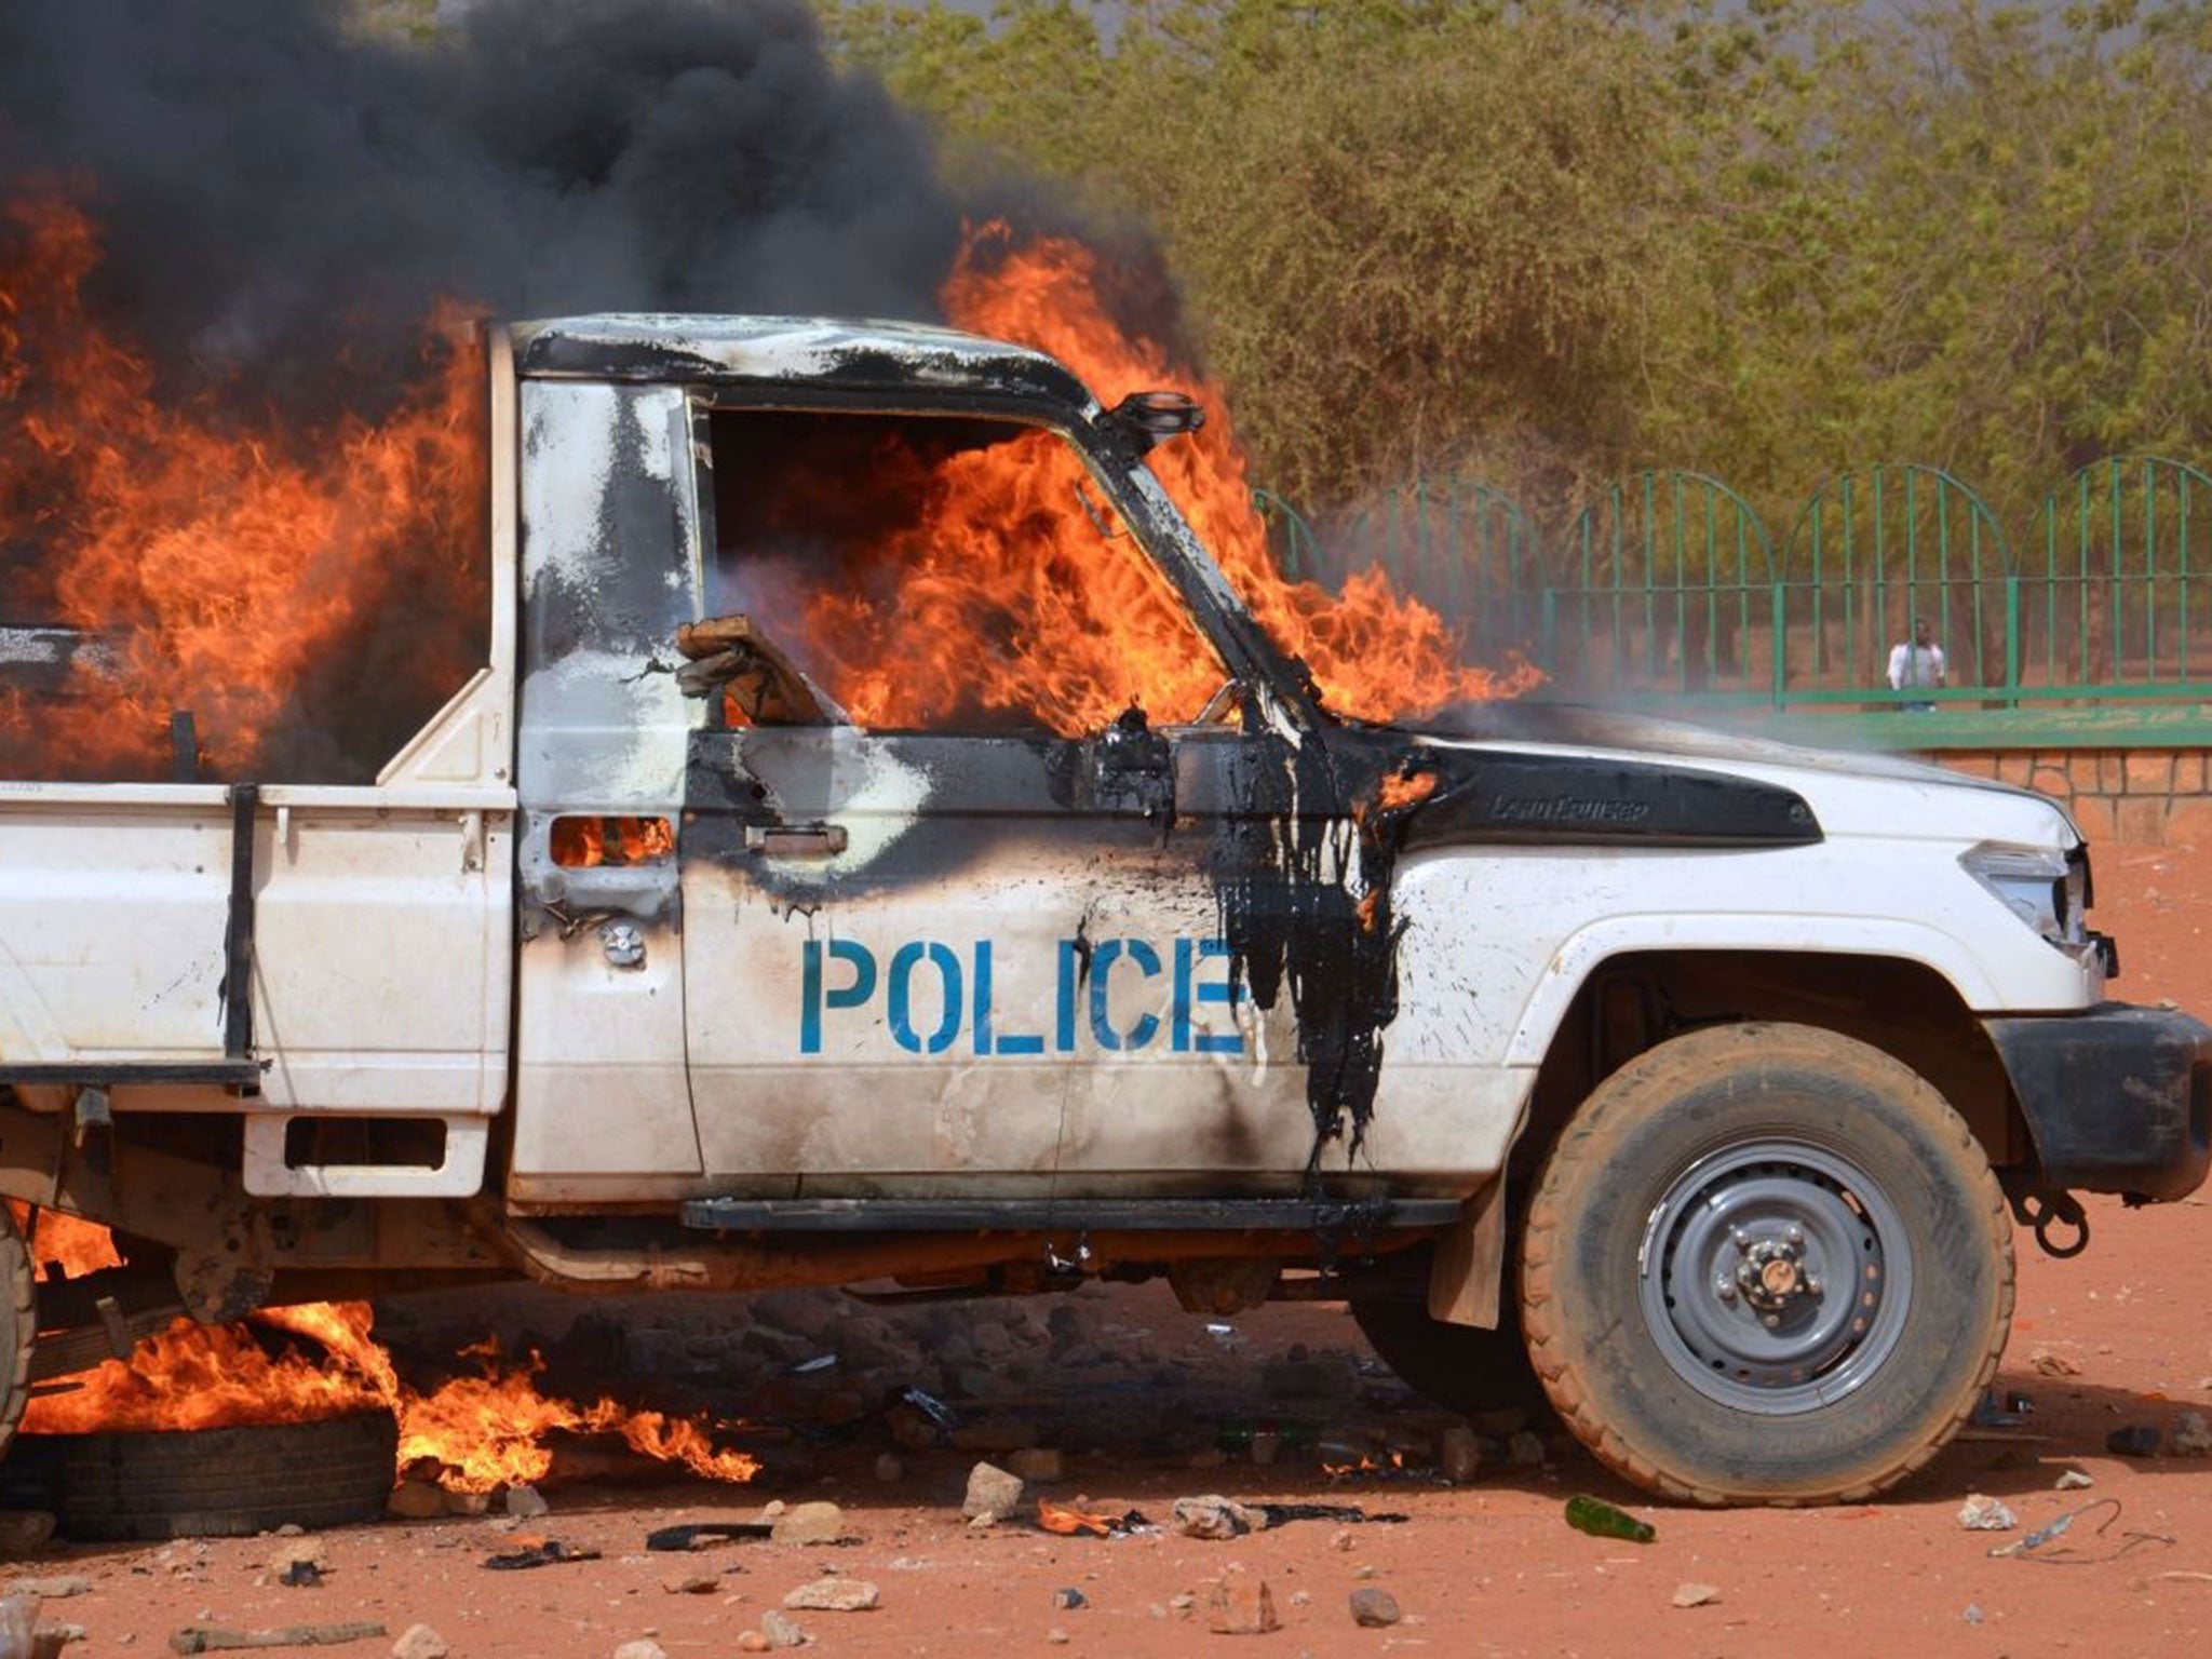
[[[0,1190],[126,1254],[33,1305],[0,1241],[7,1422],[177,1307],[1166,1274],[1533,1371],[1657,1493],[1856,1500],[1989,1383],[2013,1217],[2205,1175],[2212,1031],[2106,1000],[2057,805],[1338,717],[1146,460],[1188,400],[792,319],[513,325],[489,385],[484,664],[374,783],[0,783]],[[1159,619],[1079,730],[838,608],[971,453]]]

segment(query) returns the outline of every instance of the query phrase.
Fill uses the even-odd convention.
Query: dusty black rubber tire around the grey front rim
[[[1792,1398],[1820,1400],[1774,1416],[1714,1398],[1728,1378],[1686,1380],[1699,1356],[1674,1343],[1677,1303],[1648,1301],[1677,1281],[1646,1283],[1644,1256],[1701,1170],[1792,1146],[1863,1175],[1851,1203],[1887,1206],[1900,1234],[1887,1243],[1911,1270],[1871,1369],[1840,1398],[1794,1383]],[[1794,1166],[1783,1152],[1754,1168],[1787,1183]],[[1566,1124],[1528,1206],[1520,1301],[1553,1407],[1637,1486],[1699,1504],[1860,1502],[1927,1464],[1995,1374],[2013,1234],[1980,1144],[1918,1073],[1814,1026],[1717,1026],[1630,1062]]]

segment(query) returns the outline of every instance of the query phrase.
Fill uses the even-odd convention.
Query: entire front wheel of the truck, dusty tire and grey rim
[[[1814,1026],[1717,1026],[1568,1121],[1520,1292],[1544,1391],[1617,1473],[1701,1504],[1856,1502],[1995,1374],[2013,1234],[1920,1075]]]

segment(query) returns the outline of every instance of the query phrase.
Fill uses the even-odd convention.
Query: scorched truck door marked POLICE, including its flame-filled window
[[[958,498],[1002,447],[1029,465],[1000,482],[1048,500]],[[1179,750],[1252,739],[1155,723],[1194,721],[1225,670],[1097,500],[1077,553],[1108,568],[1055,568],[1073,451],[1004,422],[761,411],[714,416],[706,451],[726,622],[686,644],[710,719],[679,860],[708,1183],[1073,1197],[1296,1175],[1303,1073],[1287,1042],[1267,1064],[1208,843],[1177,832]],[[1084,606],[1055,604],[1077,580],[1148,606],[1141,659],[1035,635],[1079,628]],[[1113,681],[1068,684],[1071,659]]]

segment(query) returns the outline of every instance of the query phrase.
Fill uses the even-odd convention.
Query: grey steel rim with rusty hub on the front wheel
[[[1708,1152],[1652,1206],[1644,1325],[1708,1400],[1798,1416],[1896,1352],[1913,1259],[1896,1206],[1847,1157],[1794,1137]]]

